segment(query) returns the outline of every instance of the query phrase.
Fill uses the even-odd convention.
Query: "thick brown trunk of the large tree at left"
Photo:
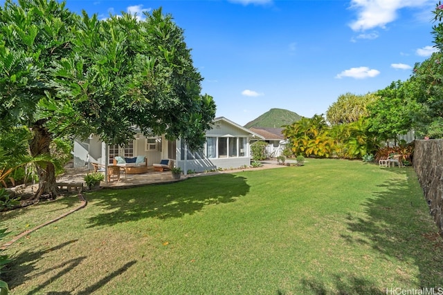
[[[44,120],[35,122],[32,127],[33,138],[30,140],[30,153],[33,157],[37,155],[50,155],[49,145],[52,138],[51,133],[44,126]],[[60,191],[55,182],[55,166],[47,163],[46,167],[37,165],[37,173],[39,176],[39,188],[34,195],[33,201],[38,202],[40,198],[55,198]]]

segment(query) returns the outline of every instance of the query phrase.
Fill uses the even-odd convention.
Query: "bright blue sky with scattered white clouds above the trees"
[[[185,32],[217,117],[244,125],[270,108],[321,114],[339,95],[406,80],[433,52],[428,0],[79,1],[75,12],[142,16],[162,7]]]

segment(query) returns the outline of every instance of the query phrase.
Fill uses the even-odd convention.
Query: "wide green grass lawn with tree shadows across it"
[[[11,294],[443,287],[443,242],[410,167],[308,159],[85,198],[87,207],[6,251]],[[76,204],[66,197],[0,213],[0,228],[18,234]]]

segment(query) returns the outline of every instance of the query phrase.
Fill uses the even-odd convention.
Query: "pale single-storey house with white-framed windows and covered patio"
[[[206,131],[206,143],[199,152],[191,152],[185,142],[180,139],[167,140],[164,135],[144,137],[137,133],[127,146],[107,146],[99,137],[91,135],[84,142],[75,140],[74,167],[89,166],[92,169],[92,162],[106,166],[112,164],[116,156],[134,158],[144,155],[147,166],[169,159],[185,173],[238,168],[251,164],[249,144],[253,138],[264,140],[262,135],[225,117],[213,120],[213,128]]]

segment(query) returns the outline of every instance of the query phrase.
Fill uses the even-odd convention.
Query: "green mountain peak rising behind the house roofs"
[[[269,111],[260,115],[255,120],[244,125],[245,128],[251,127],[269,127],[280,128],[283,125],[289,125],[300,120],[302,116],[282,108],[271,108]]]

